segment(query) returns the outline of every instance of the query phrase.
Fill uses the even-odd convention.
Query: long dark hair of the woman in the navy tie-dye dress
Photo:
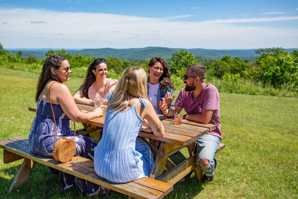
[[[60,78],[56,75],[54,75],[51,72],[51,68],[54,68],[55,70],[60,68],[61,62],[67,60],[66,57],[62,55],[51,55],[49,56],[46,61],[44,62],[44,66],[42,67],[41,74],[38,78],[38,83],[36,87],[36,96],[35,96],[35,101],[37,102],[39,95],[41,94],[41,91],[44,89],[46,86],[46,83],[52,79],[54,81],[58,81],[62,83]]]

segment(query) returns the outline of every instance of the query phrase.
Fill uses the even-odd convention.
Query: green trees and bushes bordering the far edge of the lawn
[[[298,93],[298,52],[294,50],[291,54],[280,48],[266,48],[256,50],[255,53],[259,55],[255,58],[254,62],[242,61],[236,57],[234,59],[231,56],[223,56],[222,59],[208,59],[195,56],[192,53],[188,53],[185,50],[176,51],[172,53],[172,57],[167,59],[170,66],[170,72],[172,73],[172,80],[175,83],[176,88],[184,87],[184,83],[181,81],[184,71],[189,64],[199,63],[207,69],[207,82],[208,81],[221,81],[229,83],[225,84],[224,90],[228,92],[231,88],[239,87],[241,85],[254,84],[259,87],[272,87],[274,89],[283,89],[291,92]],[[89,64],[95,58],[86,55],[76,54],[75,56],[66,53],[66,50],[49,50],[46,52],[46,58],[50,55],[59,54],[65,56],[69,63],[73,66],[72,75],[75,77],[85,77]],[[40,72],[44,61],[29,56],[27,58],[22,57],[22,52],[19,51],[16,55],[8,52],[3,48],[0,43],[0,65]],[[108,77],[119,79],[121,73],[130,66],[139,66],[145,69],[149,63],[149,58],[139,61],[121,60],[118,57],[105,57],[108,62]],[[235,85],[233,85],[235,83]],[[222,85],[220,85],[222,87]],[[235,87],[236,86],[236,87]],[[228,88],[229,87],[229,88]]]

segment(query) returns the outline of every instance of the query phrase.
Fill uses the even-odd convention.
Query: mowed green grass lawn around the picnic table
[[[35,73],[0,68],[0,140],[28,138],[37,79]],[[66,85],[74,94],[81,83],[71,77]],[[220,93],[220,106],[226,148],[215,155],[213,184],[197,183],[193,174],[165,198],[298,198],[298,99]],[[75,187],[61,191],[58,176],[39,163],[25,185],[7,194],[21,163],[0,161],[0,198],[89,198]],[[98,197],[127,198],[114,191]]]

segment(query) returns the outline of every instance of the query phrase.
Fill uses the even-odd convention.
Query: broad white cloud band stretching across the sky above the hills
[[[193,22],[193,18],[191,21],[186,20],[190,16],[146,18],[0,7],[0,18],[7,23],[1,25],[0,41],[4,48],[130,48],[162,45],[173,48],[247,49],[298,46],[297,26],[286,29],[243,24],[297,20],[298,17]],[[185,19],[169,20],[176,18]]]

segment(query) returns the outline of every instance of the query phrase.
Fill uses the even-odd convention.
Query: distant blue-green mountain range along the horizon
[[[171,58],[172,53],[180,51],[183,48],[166,48],[166,47],[145,47],[145,48],[128,48],[128,49],[114,49],[114,48],[99,48],[99,49],[65,49],[67,53],[71,55],[76,55],[78,52],[80,55],[94,56],[94,57],[119,57],[120,59],[128,60],[144,60],[146,58],[151,58],[152,56],[161,55],[164,58]],[[44,58],[45,54],[50,48],[11,48],[6,49],[14,54],[18,51],[22,51],[23,57],[27,58],[29,55],[35,56],[36,58]],[[52,49],[61,50],[61,49]],[[195,57],[206,57],[220,59],[224,55],[231,56],[232,58],[239,57],[241,59],[252,59],[257,55],[254,53],[258,49],[247,49],[247,50],[212,50],[212,49],[184,49],[188,53],[192,52]],[[298,48],[283,49],[289,53],[293,50],[298,50]]]

